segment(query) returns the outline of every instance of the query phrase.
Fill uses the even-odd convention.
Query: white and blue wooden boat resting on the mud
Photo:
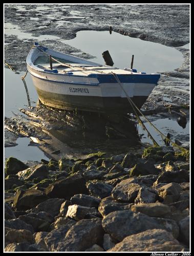
[[[160,74],[101,65],[37,42],[26,62],[40,102],[63,110],[133,113],[127,98],[140,109],[160,78]]]

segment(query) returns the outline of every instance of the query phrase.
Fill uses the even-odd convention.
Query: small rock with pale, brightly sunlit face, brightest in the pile
[[[70,205],[68,207],[68,212],[66,218],[71,218],[74,220],[82,220],[89,214],[95,214],[96,208],[85,207],[77,204]]]

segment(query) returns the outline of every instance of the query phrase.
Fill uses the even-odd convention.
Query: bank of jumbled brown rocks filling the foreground
[[[189,251],[189,155],[7,159],[5,251]]]

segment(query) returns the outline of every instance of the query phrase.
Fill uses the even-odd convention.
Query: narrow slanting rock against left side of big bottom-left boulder
[[[45,244],[47,246],[47,249],[49,251],[58,251],[57,247],[59,242],[65,240],[66,233],[75,223],[75,220],[68,219],[66,224],[49,232],[45,237]]]

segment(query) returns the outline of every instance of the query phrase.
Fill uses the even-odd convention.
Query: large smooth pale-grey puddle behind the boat
[[[134,54],[134,68],[146,73],[174,70],[181,66],[184,60],[182,53],[175,48],[116,32],[110,34],[109,31],[79,31],[75,38],[64,42],[96,56],[91,60],[98,63],[104,63],[102,52],[109,50],[114,62],[113,67],[118,68],[131,67]]]

